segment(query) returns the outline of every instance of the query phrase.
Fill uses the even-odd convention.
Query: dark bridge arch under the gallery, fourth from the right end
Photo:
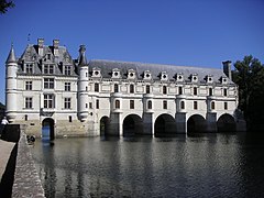
[[[143,134],[143,120],[138,114],[129,114],[123,120],[123,135]]]

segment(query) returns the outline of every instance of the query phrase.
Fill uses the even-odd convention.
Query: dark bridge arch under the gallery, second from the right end
[[[200,114],[193,114],[187,121],[187,133],[204,133],[207,129],[206,119]]]

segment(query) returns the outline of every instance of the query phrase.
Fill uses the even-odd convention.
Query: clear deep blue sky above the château
[[[264,62],[263,0],[14,0],[0,15],[0,101],[4,62],[13,42],[20,56],[43,37],[80,44],[89,59],[221,68],[252,54]],[[28,42],[28,35],[30,42]]]

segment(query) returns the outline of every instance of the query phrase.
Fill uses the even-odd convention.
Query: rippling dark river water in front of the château
[[[264,135],[37,140],[46,197],[264,197]]]

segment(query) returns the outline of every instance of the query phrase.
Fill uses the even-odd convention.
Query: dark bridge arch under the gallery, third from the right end
[[[154,124],[154,135],[162,136],[165,134],[176,133],[176,121],[170,114],[160,114]]]

